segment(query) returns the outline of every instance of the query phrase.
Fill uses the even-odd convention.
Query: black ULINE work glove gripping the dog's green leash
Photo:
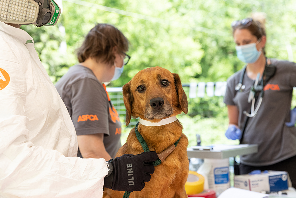
[[[110,169],[104,178],[104,187],[118,191],[140,191],[154,173],[154,165],[149,162],[157,160],[155,151],[138,155],[124,154],[106,161]]]

